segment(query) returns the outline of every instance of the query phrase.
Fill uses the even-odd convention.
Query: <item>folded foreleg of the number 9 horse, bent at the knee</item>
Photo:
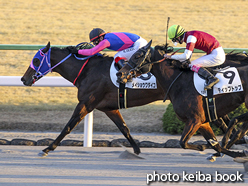
[[[199,129],[201,126],[201,123],[197,124],[187,124],[185,125],[183,129],[183,133],[180,139],[180,145],[184,149],[192,149],[192,150],[198,150],[198,151],[204,151],[208,146],[205,144],[202,145],[194,145],[194,144],[189,144],[188,141],[190,138],[195,134],[195,132]]]

